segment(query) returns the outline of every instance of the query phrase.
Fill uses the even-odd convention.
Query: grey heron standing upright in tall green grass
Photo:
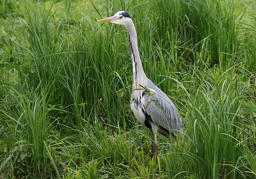
[[[124,26],[128,31],[130,53],[132,58],[132,98],[131,109],[136,119],[150,130],[152,154],[157,155],[157,132],[174,139],[183,135],[180,114],[170,98],[148,79],[140,60],[137,33],[130,15],[119,11],[114,16],[98,20]]]

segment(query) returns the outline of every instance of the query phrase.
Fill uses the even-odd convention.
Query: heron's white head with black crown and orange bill
[[[127,28],[130,23],[132,23],[132,19],[127,12],[119,11],[114,16],[98,20],[98,22],[111,22],[114,24],[125,26]]]

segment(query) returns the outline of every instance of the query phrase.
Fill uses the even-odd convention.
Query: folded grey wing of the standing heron
[[[172,134],[183,134],[182,121],[170,98],[158,87],[144,90],[142,104],[152,121]],[[175,135],[174,135],[175,136]]]

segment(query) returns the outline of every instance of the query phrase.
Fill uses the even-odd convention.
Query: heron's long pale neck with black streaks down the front
[[[140,61],[140,54],[138,50],[137,33],[134,24],[131,20],[129,26],[126,27],[129,35],[129,45],[132,57],[132,89],[138,88],[138,85],[145,85],[143,81],[147,79],[144,70],[142,68],[142,63]]]

